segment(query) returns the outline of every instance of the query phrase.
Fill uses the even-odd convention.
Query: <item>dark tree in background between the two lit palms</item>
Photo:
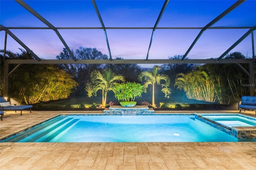
[[[116,57],[115,59],[123,59]],[[122,74],[126,81],[138,82],[138,75],[141,72],[141,68],[138,64],[106,64],[105,69],[111,69],[116,75]]]

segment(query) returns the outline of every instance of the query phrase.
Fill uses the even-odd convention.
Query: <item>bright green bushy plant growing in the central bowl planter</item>
[[[135,82],[126,82],[116,84],[113,88],[118,101],[134,101],[136,97],[141,97],[143,85]]]

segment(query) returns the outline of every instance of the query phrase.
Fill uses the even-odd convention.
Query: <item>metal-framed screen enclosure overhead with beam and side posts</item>
[[[0,49],[26,49],[34,59],[5,59],[8,76],[20,64],[234,63],[254,84],[255,0],[0,0]],[[109,59],[76,59],[72,49],[96,47]],[[72,59],[58,60],[66,48]],[[247,59],[222,59],[240,51]],[[183,55],[182,59],[168,59]],[[114,59],[122,57],[123,60]],[[248,63],[249,70],[242,63]],[[9,70],[10,64],[16,64]],[[250,86],[254,95],[254,86]]]

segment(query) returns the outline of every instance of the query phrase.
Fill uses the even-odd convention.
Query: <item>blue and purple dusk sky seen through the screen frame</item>
[[[90,0],[25,0],[54,27],[101,27]],[[164,0],[96,0],[105,27],[153,28]],[[161,27],[204,27],[224,12],[234,0],[170,0],[158,24]],[[0,0],[0,24],[4,27],[47,27],[14,0]],[[212,27],[256,26],[256,0],[247,0]],[[209,29],[194,45],[189,59],[217,58],[249,29]],[[53,30],[10,29],[38,57],[56,59],[64,45]],[[102,29],[58,30],[70,49],[96,47],[109,56]],[[148,59],[168,59],[184,55],[200,29],[156,29]],[[152,29],[107,29],[112,58],[146,59]],[[4,49],[4,31],[0,32],[0,49]],[[254,44],[256,34],[254,31]],[[255,45],[256,46],[256,45]],[[7,50],[22,48],[10,36]],[[256,49],[256,47],[255,47]],[[252,57],[252,36],[249,35],[232,51]]]

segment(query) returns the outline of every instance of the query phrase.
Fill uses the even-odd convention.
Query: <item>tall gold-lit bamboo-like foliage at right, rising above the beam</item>
[[[224,59],[246,59],[240,52]],[[241,64],[242,65],[242,64]],[[242,65],[248,70],[248,65]],[[189,73],[179,73],[175,84],[189,99],[229,105],[249,95],[248,75],[236,64],[204,64]]]

